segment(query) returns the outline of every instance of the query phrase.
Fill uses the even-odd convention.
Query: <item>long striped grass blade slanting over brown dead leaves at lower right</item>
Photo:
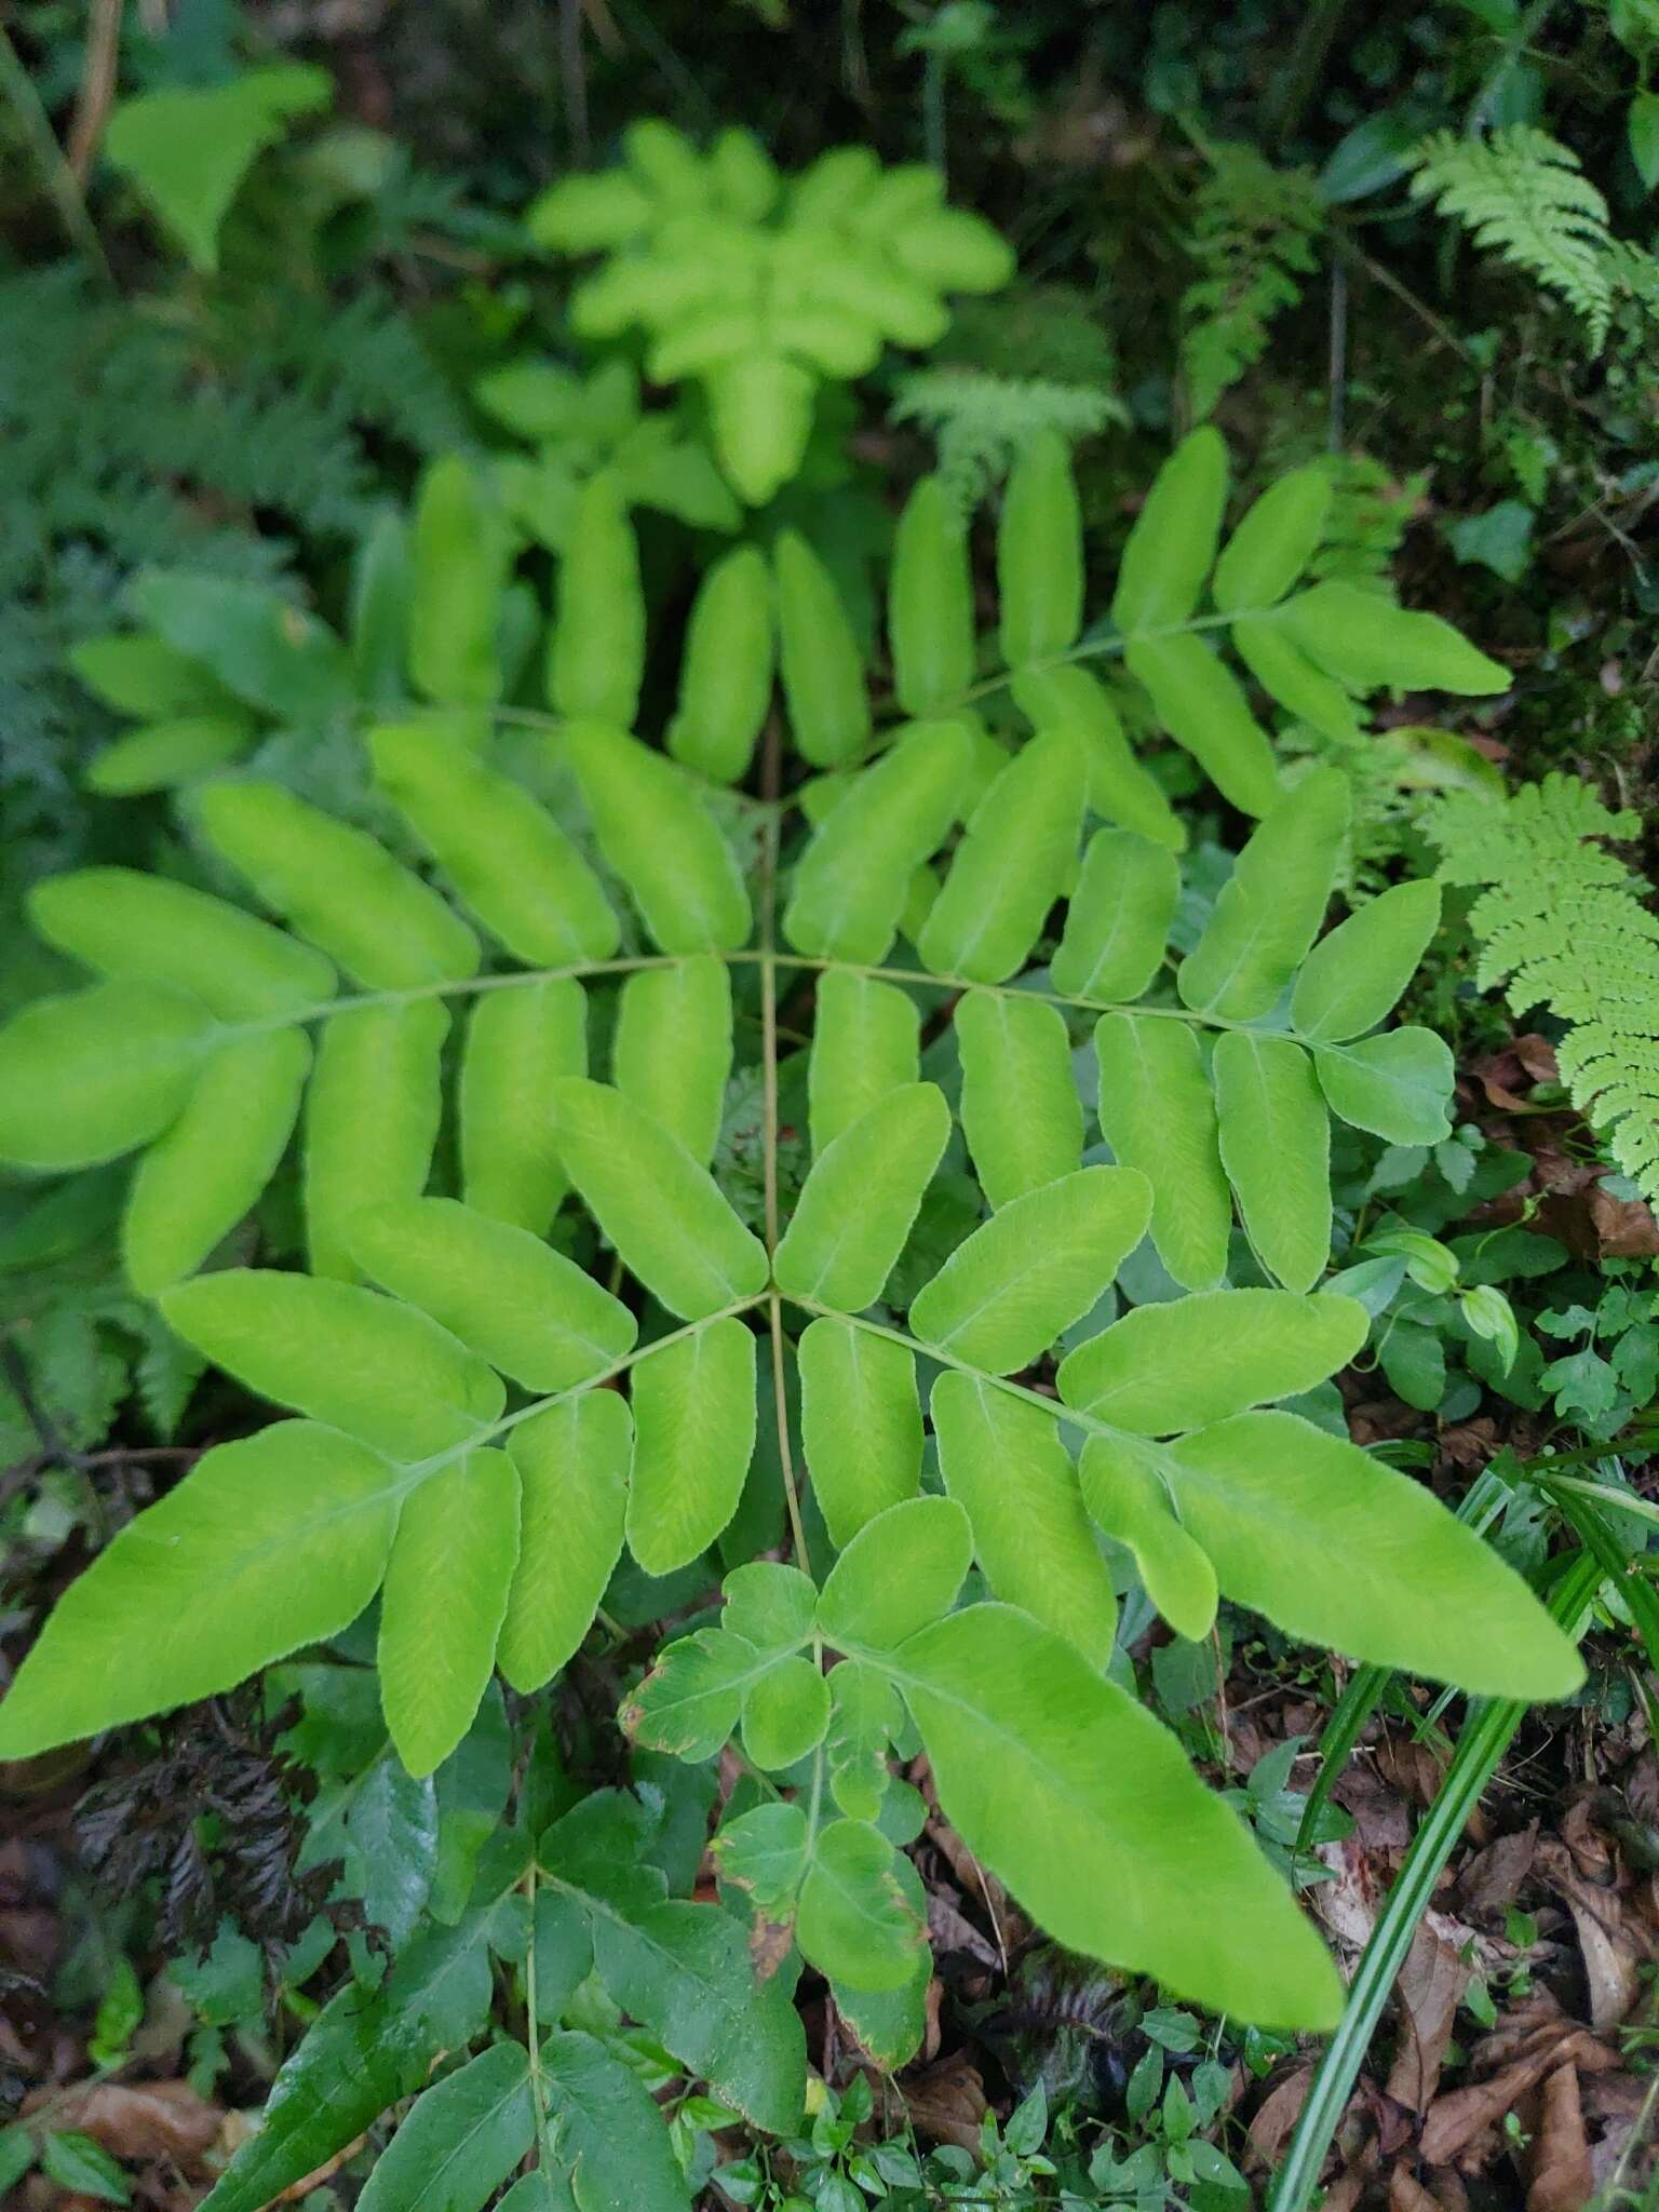
[[[1571,1635],[1584,1632],[1584,1615],[1599,1582],[1601,1562],[1588,1548],[1575,1553],[1555,1582],[1548,1608]],[[1447,1778],[1433,1805],[1422,1816],[1422,1825],[1400,1865],[1400,1876],[1378,1913],[1376,1929],[1349,1986],[1340,2026],[1318,2064],[1307,2104],[1290,2139],[1285,2163],[1274,2177],[1267,2212],[1307,2212],[1307,2205],[1314,2201],[1325,2152],[1336,2135],[1336,2124],[1354,2090],[1365,2053],[1371,2048],[1376,2024],[1411,1949],[1418,1920],[1429,1909],[1440,1869],[1451,1858],[1451,1849],[1469,1814],[1475,1809],[1480,1794],[1528,1710],[1526,1703],[1506,1699],[1471,1705]]]

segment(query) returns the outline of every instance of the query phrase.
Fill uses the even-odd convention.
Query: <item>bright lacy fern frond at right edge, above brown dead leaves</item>
[[[1659,1203],[1659,916],[1601,843],[1637,836],[1639,816],[1548,774],[1504,801],[1458,792],[1427,827],[1444,883],[1486,885],[1469,914],[1480,984],[1568,1024],[1557,1062],[1573,1104]]]

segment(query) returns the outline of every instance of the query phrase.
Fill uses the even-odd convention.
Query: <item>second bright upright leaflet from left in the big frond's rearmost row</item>
[[[549,633],[546,697],[555,712],[630,730],[646,666],[646,597],[628,500],[595,469],[575,500]],[[611,858],[606,854],[606,858]],[[626,869],[617,869],[626,878]],[[664,947],[688,951],[690,947]]]

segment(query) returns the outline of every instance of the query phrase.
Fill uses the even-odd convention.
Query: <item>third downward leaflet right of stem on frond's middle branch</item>
[[[1183,1290],[1212,1290],[1228,1272],[1232,1197],[1199,1040],[1186,1022],[1106,1013],[1095,1060],[1099,1130],[1152,1186],[1157,1256]]]

